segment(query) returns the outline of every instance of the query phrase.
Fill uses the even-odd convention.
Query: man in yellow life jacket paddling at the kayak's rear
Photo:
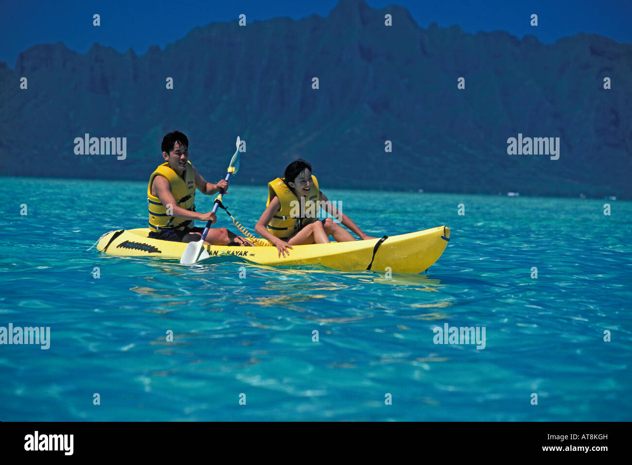
[[[193,227],[194,220],[217,221],[213,212],[195,211],[195,188],[205,195],[228,190],[222,179],[207,183],[188,161],[189,140],[179,132],[168,133],[162,139],[162,158],[166,161],[155,169],[147,186],[149,202],[149,237],[163,241],[199,241],[204,228]],[[252,245],[225,227],[210,228],[204,241],[209,245]]]

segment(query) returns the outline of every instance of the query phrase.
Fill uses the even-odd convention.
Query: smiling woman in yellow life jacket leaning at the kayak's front
[[[343,212],[338,210],[324,193],[312,175],[312,166],[303,159],[291,162],[285,169],[284,178],[268,183],[267,208],[255,226],[262,238],[276,245],[279,257],[289,255],[293,245],[329,243],[329,236],[338,242],[355,241],[349,231],[336,224],[331,218],[317,219],[319,207],[336,217],[361,239],[375,239],[356,226]]]

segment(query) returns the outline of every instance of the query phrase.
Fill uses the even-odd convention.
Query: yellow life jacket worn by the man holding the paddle
[[[191,162],[186,162],[185,179],[178,176],[178,173],[169,167],[168,163],[163,163],[157,167],[149,178],[147,185],[147,202],[149,203],[149,229],[157,233],[161,229],[176,229],[182,231],[193,222],[183,218],[167,215],[167,208],[162,205],[160,198],[152,195],[152,183],[156,176],[164,176],[169,181],[171,194],[180,208],[195,212],[195,172]]]

